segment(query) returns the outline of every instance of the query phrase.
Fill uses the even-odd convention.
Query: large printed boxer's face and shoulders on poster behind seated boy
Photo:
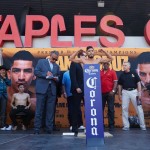
[[[35,94],[29,91],[32,80],[35,80],[34,57],[30,52],[21,50],[14,54],[8,78],[11,79],[11,87],[8,88],[8,110],[10,110],[12,95],[18,92],[18,85],[23,84],[24,91],[31,97],[31,110],[35,111]]]

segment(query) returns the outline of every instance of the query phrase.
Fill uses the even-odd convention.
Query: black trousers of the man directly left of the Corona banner
[[[81,112],[81,100],[83,99],[83,94],[73,94],[72,95],[72,131],[76,132],[78,127],[83,125],[82,112]]]

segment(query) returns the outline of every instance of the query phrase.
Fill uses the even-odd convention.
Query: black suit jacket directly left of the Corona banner
[[[72,62],[70,65],[71,93],[76,94],[80,88],[84,94],[83,68],[81,64]]]

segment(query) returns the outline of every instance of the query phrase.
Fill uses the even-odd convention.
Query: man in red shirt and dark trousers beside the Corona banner
[[[109,68],[109,63],[103,63],[101,70],[101,85],[102,85],[102,105],[103,112],[107,102],[108,105],[108,126],[109,130],[114,129],[114,96],[117,88],[117,75],[116,72]],[[104,113],[103,113],[104,114]]]

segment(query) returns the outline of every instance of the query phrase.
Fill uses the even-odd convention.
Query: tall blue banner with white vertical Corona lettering
[[[84,65],[86,142],[89,146],[104,144],[100,65]]]

